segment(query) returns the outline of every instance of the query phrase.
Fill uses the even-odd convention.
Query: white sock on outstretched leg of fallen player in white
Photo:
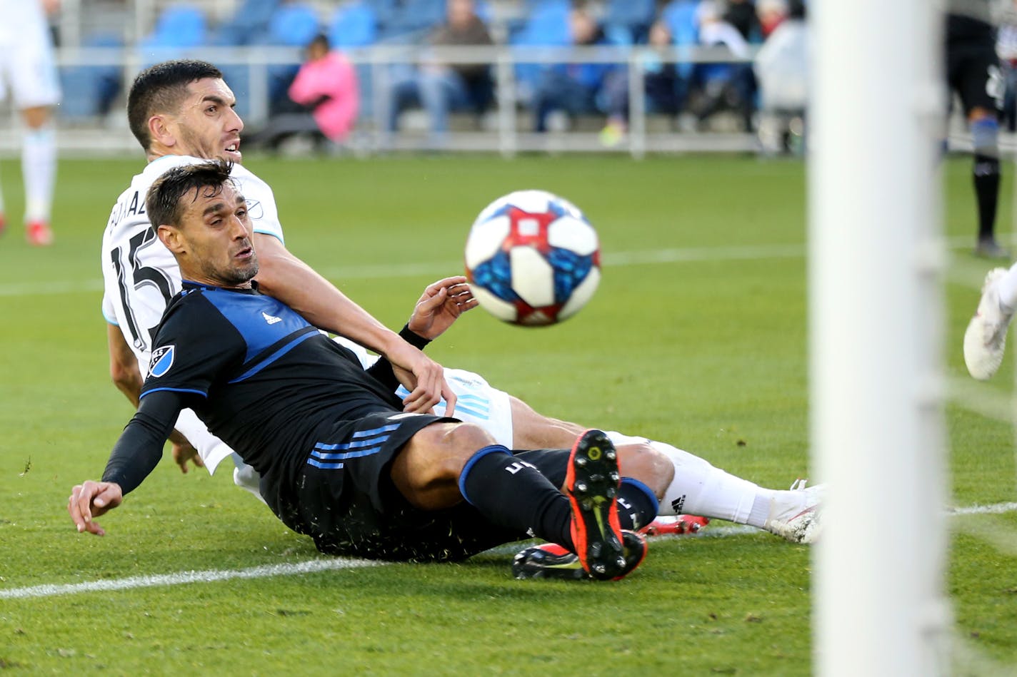
[[[774,491],[725,473],[666,442],[614,432],[607,436],[615,445],[649,442],[674,464],[674,479],[660,501],[660,514],[698,514],[753,527],[762,527],[766,521]]]

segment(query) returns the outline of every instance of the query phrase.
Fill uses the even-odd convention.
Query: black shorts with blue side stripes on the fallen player
[[[353,428],[345,426],[337,431],[342,441],[331,442],[337,449],[318,444],[308,457],[314,463],[298,474],[291,519],[280,512],[283,521],[310,536],[322,553],[393,561],[460,561],[494,546],[530,538],[525,532],[492,525],[465,501],[445,510],[427,511],[410,505],[392,482],[393,459],[421,429],[455,419],[401,416],[394,421],[392,417],[376,414]],[[564,482],[567,450],[519,455],[537,466],[556,486]],[[342,468],[333,467],[340,463]]]

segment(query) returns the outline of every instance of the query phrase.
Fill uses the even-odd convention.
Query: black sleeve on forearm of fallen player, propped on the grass
[[[173,390],[141,397],[137,413],[113,445],[103,482],[115,482],[127,494],[148,477],[163,457],[163,445],[185,406],[184,399],[183,393]]]

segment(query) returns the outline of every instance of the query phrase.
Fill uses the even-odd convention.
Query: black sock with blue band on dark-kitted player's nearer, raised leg
[[[573,548],[569,498],[500,444],[473,454],[460,475],[459,490],[495,525]]]

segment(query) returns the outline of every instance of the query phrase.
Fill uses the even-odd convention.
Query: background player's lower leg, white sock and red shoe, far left
[[[32,244],[48,245],[53,242],[50,213],[56,180],[56,131],[50,123],[49,107],[26,108],[21,115],[27,127],[21,145],[26,236]]]

